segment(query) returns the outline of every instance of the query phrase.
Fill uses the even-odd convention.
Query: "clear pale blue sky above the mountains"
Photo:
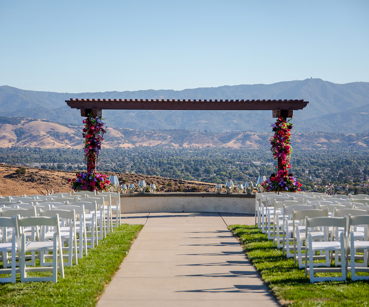
[[[369,81],[369,1],[4,1],[0,85],[104,92]]]

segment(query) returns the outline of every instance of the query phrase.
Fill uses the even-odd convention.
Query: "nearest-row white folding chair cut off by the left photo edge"
[[[2,277],[0,278],[0,283],[11,282],[15,283],[15,273],[19,272],[19,269],[16,268],[16,257],[17,257],[17,250],[18,250],[18,238],[16,236],[18,228],[17,226],[17,218],[16,217],[0,217],[0,228],[3,233],[7,233],[7,228],[13,228],[12,231],[12,238],[10,242],[0,242],[0,252],[3,254],[3,261],[4,261],[4,254],[11,253],[11,264],[10,269],[4,268],[0,269],[0,275],[4,274],[11,274],[10,277]],[[7,258],[7,257],[6,257]]]

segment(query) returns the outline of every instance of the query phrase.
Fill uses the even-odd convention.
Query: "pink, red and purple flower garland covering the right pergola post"
[[[274,159],[277,160],[277,173],[270,175],[270,178],[262,183],[266,192],[287,191],[297,192],[301,191],[300,182],[296,181],[293,174],[288,173],[288,169],[291,167],[290,156],[292,152],[291,146],[291,133],[292,123],[286,118],[279,117],[275,123],[271,125],[273,127],[274,136],[270,139]]]

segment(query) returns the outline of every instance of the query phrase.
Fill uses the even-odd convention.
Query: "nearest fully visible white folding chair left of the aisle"
[[[44,241],[40,238],[40,241],[26,241],[25,235],[22,233],[22,227],[34,227],[35,231],[38,231],[38,226],[41,229],[44,227],[53,226],[55,229],[55,234],[52,241]],[[61,272],[61,278],[64,278],[64,265],[63,265],[63,252],[62,252],[62,241],[59,233],[59,216],[56,214],[55,217],[19,217],[18,218],[18,236],[20,239],[20,272],[21,272],[21,282],[28,281],[52,281],[56,283],[58,281],[58,271]],[[25,254],[27,252],[52,252],[53,262],[52,268],[50,267],[27,267],[25,263]],[[59,257],[58,257],[59,254]],[[59,262],[58,262],[59,258]],[[59,264],[59,265],[58,265]],[[45,272],[52,271],[52,276],[32,276],[28,277],[27,272]]]

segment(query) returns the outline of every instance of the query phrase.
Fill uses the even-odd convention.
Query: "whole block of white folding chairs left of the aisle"
[[[0,251],[3,269],[0,274],[11,273],[11,277],[0,278],[0,282],[15,282],[15,272],[21,273],[21,282],[57,282],[57,271],[61,271],[61,277],[64,278],[63,258],[67,259],[68,266],[72,266],[73,260],[78,264],[78,258],[83,257],[83,252],[87,255],[87,248],[98,245],[106,232],[121,224],[119,193],[58,193],[19,198],[10,196],[6,202],[1,202],[2,200],[0,198]],[[15,202],[9,203],[8,200]],[[112,212],[116,216],[115,224]],[[58,227],[55,222],[50,222],[55,217]],[[17,225],[14,224],[15,221]],[[52,224],[44,225],[45,221]],[[51,250],[52,255],[48,253]],[[26,255],[28,252],[31,255]],[[40,267],[35,267],[36,257],[39,258]],[[18,259],[18,263],[15,259]],[[31,261],[26,262],[28,259]],[[46,259],[53,259],[52,277],[27,277],[27,272],[30,271],[51,271],[51,263]],[[29,264],[32,267],[28,267]]]

